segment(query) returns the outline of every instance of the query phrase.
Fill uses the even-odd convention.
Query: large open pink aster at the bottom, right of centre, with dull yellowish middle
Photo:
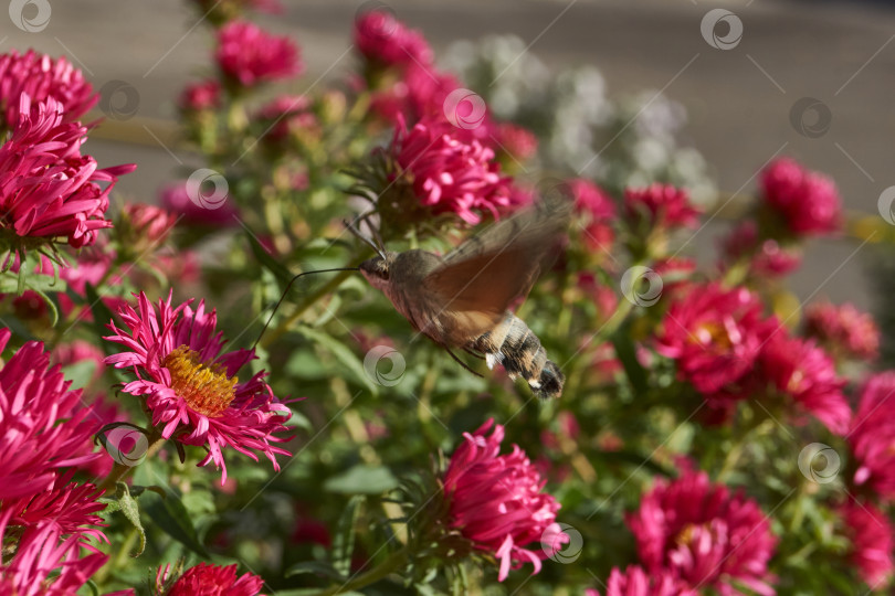
[[[775,594],[768,561],[777,539],[767,517],[754,500],[730,494],[703,471],[657,481],[628,525],[651,575],[670,570],[693,589],[713,587],[723,596],[740,595],[735,585]]]

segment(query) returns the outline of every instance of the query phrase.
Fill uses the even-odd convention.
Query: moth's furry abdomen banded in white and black
[[[472,340],[466,348],[485,354],[488,368],[502,364],[510,377],[522,376],[540,398],[559,397],[565,376],[547,359],[540,340],[525,321],[507,312],[491,331]]]

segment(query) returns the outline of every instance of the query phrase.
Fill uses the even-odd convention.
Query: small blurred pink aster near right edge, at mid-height
[[[846,302],[814,302],[806,308],[806,336],[835,354],[873,360],[880,350],[880,328],[868,312]]]

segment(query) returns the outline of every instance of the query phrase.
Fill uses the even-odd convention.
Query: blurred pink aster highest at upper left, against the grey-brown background
[[[218,31],[214,57],[227,76],[245,87],[296,76],[304,70],[292,40],[271,35],[246,21],[231,21]]]

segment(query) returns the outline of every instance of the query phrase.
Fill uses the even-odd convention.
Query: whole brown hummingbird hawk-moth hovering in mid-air
[[[538,397],[559,397],[562,372],[509,307],[528,295],[570,215],[568,201],[546,199],[445,256],[419,249],[378,251],[379,256],[360,264],[360,272],[413,329],[467,370],[451,348],[483,354],[488,369],[502,364],[512,379],[525,379]]]

